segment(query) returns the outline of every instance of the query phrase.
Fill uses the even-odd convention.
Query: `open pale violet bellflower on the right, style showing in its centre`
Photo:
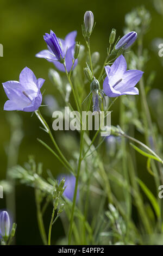
[[[143,71],[127,70],[126,59],[121,55],[111,66],[105,66],[106,77],[103,83],[104,93],[109,97],[139,94],[135,87]]]

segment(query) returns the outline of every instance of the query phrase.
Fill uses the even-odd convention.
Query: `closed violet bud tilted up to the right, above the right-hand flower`
[[[120,49],[121,47],[123,47],[124,49],[127,49],[132,44],[134,44],[136,38],[137,38],[137,33],[135,31],[131,31],[127,33],[116,44],[115,46],[116,50]]]

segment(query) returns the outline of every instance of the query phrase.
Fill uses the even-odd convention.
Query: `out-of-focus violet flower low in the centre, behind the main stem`
[[[58,180],[61,180],[61,177],[65,177],[65,191],[63,193],[63,196],[68,198],[69,200],[73,200],[73,195],[74,195],[74,188],[76,185],[76,178],[73,175],[60,175],[58,177]],[[77,191],[77,200],[79,199],[79,188]]]

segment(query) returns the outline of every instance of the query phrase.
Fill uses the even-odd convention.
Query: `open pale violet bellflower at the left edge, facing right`
[[[40,89],[44,82],[45,80],[42,78],[37,79],[33,71],[26,66],[21,71],[19,82],[8,81],[2,83],[9,98],[4,104],[4,110],[33,112],[38,109],[42,102]]]

